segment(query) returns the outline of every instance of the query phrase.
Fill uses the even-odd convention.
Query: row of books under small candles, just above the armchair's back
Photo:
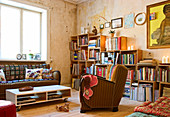
[[[135,64],[136,55],[135,54],[122,54],[121,55],[121,63],[122,64]]]

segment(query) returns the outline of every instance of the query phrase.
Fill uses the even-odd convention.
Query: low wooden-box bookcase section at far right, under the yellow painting
[[[138,64],[134,82],[137,86],[131,86],[132,100],[156,101],[163,96],[164,87],[170,87],[170,65]]]

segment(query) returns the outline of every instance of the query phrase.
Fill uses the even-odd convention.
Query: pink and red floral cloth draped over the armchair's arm
[[[89,100],[90,97],[93,95],[93,91],[91,87],[98,84],[98,79],[96,76],[93,75],[85,75],[82,77],[84,79],[84,93],[83,96]]]

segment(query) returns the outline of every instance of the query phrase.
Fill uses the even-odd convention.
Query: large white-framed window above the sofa
[[[29,54],[31,50],[47,60],[46,18],[43,12],[25,6],[0,4],[0,59],[16,60],[17,54]]]

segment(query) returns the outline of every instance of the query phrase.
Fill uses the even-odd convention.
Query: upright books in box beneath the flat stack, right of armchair
[[[154,68],[143,67],[137,73],[138,80],[156,81],[156,70]]]

